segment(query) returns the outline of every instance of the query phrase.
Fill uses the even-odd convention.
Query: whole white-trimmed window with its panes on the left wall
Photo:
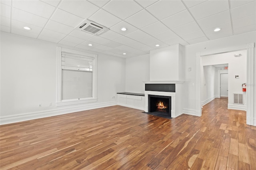
[[[57,106],[97,101],[97,55],[57,47]]]

